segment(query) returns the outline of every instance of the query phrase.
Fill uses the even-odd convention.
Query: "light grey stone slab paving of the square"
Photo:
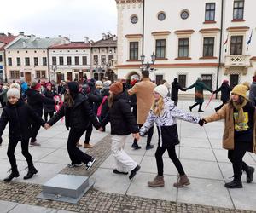
[[[179,101],[178,107],[188,111],[189,105],[192,103],[193,101]],[[218,104],[219,101],[212,102],[205,112],[200,113],[200,115],[204,117],[211,114],[214,107],[218,106]],[[193,113],[198,114],[197,108],[194,108],[194,111],[195,112]],[[152,140],[152,143],[154,144],[154,149],[152,150],[145,150],[146,138],[141,138],[139,141],[140,145],[142,146],[142,149],[140,150],[131,149],[131,136],[129,136],[126,141],[125,151],[129,153],[131,157],[134,158],[142,167],[137,173],[137,176],[130,181],[128,176],[119,176],[113,174],[114,160],[113,156],[109,155],[110,140],[108,137],[108,126],[106,133],[94,130],[91,137],[91,143],[96,144],[96,147],[90,149],[89,152],[96,156],[97,160],[96,165],[93,166],[94,168],[90,170],[90,174],[95,171],[90,178],[96,182],[94,186],[95,189],[93,189],[90,193],[96,196],[98,194],[101,194],[101,196],[106,195],[106,198],[110,199],[113,199],[114,196],[119,199],[125,198],[122,196],[130,196],[129,198],[134,197],[137,198],[137,200],[142,198],[144,201],[148,199],[157,199],[157,202],[159,202],[159,200],[163,200],[166,202],[166,204],[174,204],[168,203],[169,201],[172,201],[177,202],[176,205],[185,203],[188,204],[188,206],[189,204],[200,204],[224,207],[231,210],[256,210],[256,197],[254,196],[256,192],[255,179],[253,180],[253,183],[247,184],[245,179],[246,176],[244,174],[242,176],[242,189],[229,190],[224,187],[224,181],[230,181],[230,177],[233,176],[232,165],[227,158],[227,151],[221,147],[224,122],[215,122],[201,127],[198,124],[190,124],[188,122],[178,120],[177,126],[181,141],[180,146],[177,146],[177,153],[181,159],[186,174],[189,176],[189,180],[191,182],[189,187],[184,187],[181,189],[172,187],[173,182],[177,181],[177,170],[172,164],[171,159],[168,158],[167,152],[164,155],[164,174],[166,186],[163,188],[149,188],[147,186],[147,182],[154,178],[157,171],[154,159],[154,152],[157,146],[156,129],[154,130],[154,137]],[[59,122],[50,130],[41,129],[38,135],[38,141],[42,144],[42,146],[31,147],[30,149],[35,166],[38,168],[38,175],[27,181],[22,179],[22,177],[26,174],[26,161],[22,156],[20,146],[18,145],[16,149],[16,158],[18,168],[20,170],[20,177],[15,179],[13,184],[3,183],[3,178],[8,176],[6,171],[9,170],[9,161],[6,156],[8,137],[7,132],[8,131],[5,130],[3,135],[3,146],[0,147],[1,186],[15,188],[16,185],[14,185],[14,183],[17,183],[17,186],[22,185],[21,187],[26,186],[24,184],[28,183],[31,184],[29,187],[35,187],[37,190],[40,190],[40,188],[38,189],[37,186],[40,187],[40,185],[44,184],[44,182],[48,181],[50,178],[60,172],[86,175],[84,168],[79,168],[76,170],[67,169],[67,163],[69,163],[69,158],[67,155],[68,132],[65,128],[64,122]],[[84,141],[84,136],[81,138],[81,140]],[[81,149],[84,150],[83,147],[81,147]],[[88,152],[88,150],[86,152]],[[100,157],[101,155],[102,158]],[[247,162],[247,164],[256,167],[255,154],[247,153],[244,160]],[[98,190],[98,192],[95,190]],[[84,197],[86,197],[86,195],[84,195]],[[22,204],[9,203],[8,201],[12,201],[13,199],[8,199],[1,196],[1,194],[0,199],[4,200],[0,201],[1,212],[2,210],[5,210],[3,212],[35,212],[34,208],[43,208],[38,209],[37,211],[39,212],[65,212],[58,211],[57,209],[72,211],[81,210],[76,210],[75,206],[73,206],[73,208],[69,208],[69,206],[68,208],[61,208],[62,205],[67,206],[67,204],[62,203],[57,204],[56,206],[58,207],[56,208],[48,209],[48,211],[47,208],[45,209],[45,207],[34,206],[35,204],[33,202],[37,200],[34,198],[32,199],[33,202],[25,202],[23,201],[23,198],[17,198],[17,202]],[[110,201],[109,204],[113,204]],[[83,198],[82,203],[83,202],[86,204],[85,198]],[[97,202],[100,202],[99,206],[102,205],[102,200]],[[129,202],[127,201],[127,203]],[[36,204],[46,206],[46,204],[44,204],[44,202],[41,200],[37,200]],[[47,204],[47,206],[55,207],[55,204]],[[160,206],[157,206],[157,208],[160,208]]]

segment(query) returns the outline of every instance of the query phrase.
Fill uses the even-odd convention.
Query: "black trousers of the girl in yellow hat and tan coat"
[[[247,170],[247,164],[242,161],[242,158],[250,146],[251,144],[249,142],[235,141],[234,150],[229,150],[228,152],[228,158],[233,165],[234,179],[236,181],[241,181],[242,170]]]

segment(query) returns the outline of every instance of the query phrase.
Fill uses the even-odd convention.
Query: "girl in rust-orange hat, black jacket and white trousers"
[[[113,173],[119,175],[128,175],[132,179],[140,166],[127,153],[125,153],[125,139],[132,133],[133,137],[139,139],[139,130],[136,120],[131,112],[129,101],[124,97],[123,84],[121,82],[113,83],[109,88],[108,116],[102,121],[102,126],[110,121],[112,146],[111,150],[116,162],[116,168]]]

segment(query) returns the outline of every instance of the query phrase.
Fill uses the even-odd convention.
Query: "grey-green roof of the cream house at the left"
[[[35,38],[35,40],[31,40],[31,38],[20,38],[13,45],[9,46],[8,49],[47,49],[54,44],[61,44],[63,41],[63,37],[55,37],[55,38]]]

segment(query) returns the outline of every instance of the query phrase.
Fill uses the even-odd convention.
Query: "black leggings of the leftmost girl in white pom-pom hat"
[[[28,152],[28,139],[25,141],[21,141],[21,153],[26,158],[26,162],[28,165],[28,168],[31,168],[33,166],[32,156]],[[8,144],[8,150],[7,150],[7,156],[9,158],[9,163],[11,164],[12,170],[17,170],[17,164],[16,164],[16,158],[15,158],[15,148],[18,144],[18,141],[9,141]]]

